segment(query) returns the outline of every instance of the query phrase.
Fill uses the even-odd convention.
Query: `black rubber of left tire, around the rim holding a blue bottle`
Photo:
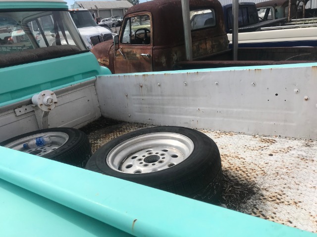
[[[19,140],[23,137],[46,132],[66,133],[68,135],[68,140],[61,147],[41,157],[81,168],[85,167],[88,159],[92,155],[91,146],[87,135],[83,131],[75,128],[57,127],[28,132],[1,142],[0,146],[5,146],[6,144],[9,144],[15,140]]]

